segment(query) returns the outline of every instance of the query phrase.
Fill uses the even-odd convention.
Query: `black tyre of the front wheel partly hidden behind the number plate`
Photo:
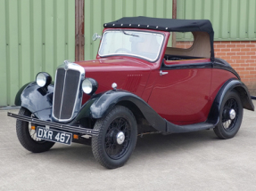
[[[21,107],[19,115],[31,116],[31,112],[27,108]],[[32,153],[45,152],[54,146],[54,142],[38,139],[36,130],[31,129],[29,122],[17,120],[16,132],[21,145]]]

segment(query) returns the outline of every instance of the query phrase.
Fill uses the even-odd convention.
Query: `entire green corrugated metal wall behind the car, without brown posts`
[[[256,0],[178,0],[178,19],[209,19],[215,40],[256,40]],[[172,0],[85,0],[85,60],[95,59],[103,23],[125,16],[172,17]],[[75,60],[75,1],[0,0],[0,106],[37,72],[54,76]]]

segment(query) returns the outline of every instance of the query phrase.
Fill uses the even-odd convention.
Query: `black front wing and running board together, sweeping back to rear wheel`
[[[150,123],[154,129],[166,133],[179,133],[188,131],[199,131],[211,129],[214,127],[211,123],[197,123],[191,125],[177,125],[169,123],[158,115],[152,107],[150,107],[144,99],[126,91],[109,91],[103,93],[100,97],[96,98],[90,106],[90,115],[92,118],[102,118],[107,115],[111,109],[120,101],[130,101],[136,105],[145,116],[145,119]]]

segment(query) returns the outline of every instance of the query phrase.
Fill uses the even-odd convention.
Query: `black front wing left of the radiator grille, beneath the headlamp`
[[[53,84],[48,85],[46,89],[39,87],[36,82],[32,82],[23,88],[22,92],[20,90],[17,93],[15,104],[17,100],[17,104],[21,103],[21,107],[28,108],[31,113],[37,116],[37,118],[49,120],[52,114],[53,95]]]

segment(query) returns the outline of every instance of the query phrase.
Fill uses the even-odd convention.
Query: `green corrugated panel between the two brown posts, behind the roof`
[[[172,0],[85,0],[85,60],[96,57],[92,36],[102,35],[103,23],[132,16],[172,18]]]

